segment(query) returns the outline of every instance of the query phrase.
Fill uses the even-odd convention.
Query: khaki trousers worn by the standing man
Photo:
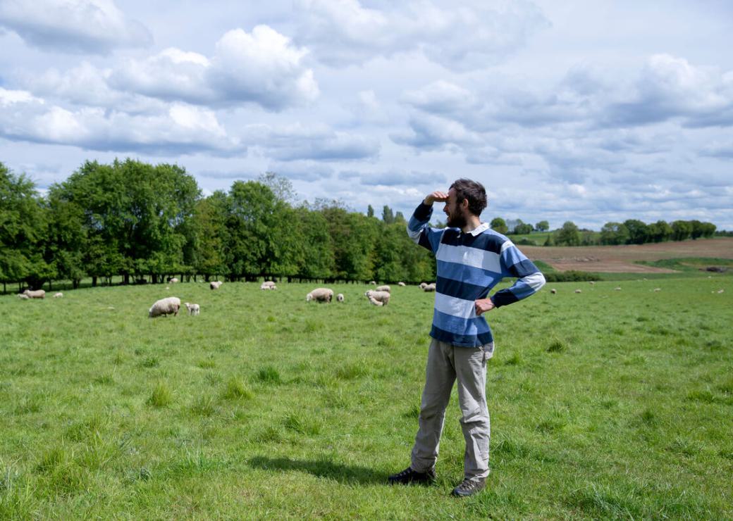
[[[494,345],[464,348],[432,339],[427,353],[425,388],[420,404],[419,430],[415,436],[410,466],[425,472],[435,468],[441,442],[446,407],[454,381],[458,381],[458,402],[465,455],[465,478],[486,478],[489,475],[490,421],[486,406],[486,361],[493,355]]]

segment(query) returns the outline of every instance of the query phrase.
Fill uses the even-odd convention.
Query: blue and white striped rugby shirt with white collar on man
[[[435,253],[438,280],[430,336],[441,342],[478,347],[493,342],[484,315],[476,316],[476,299],[485,299],[504,277],[516,277],[511,288],[491,297],[506,306],[539,291],[545,276],[507,237],[483,222],[469,233],[460,228],[430,228],[432,205],[420,203],[408,222],[408,235]]]

